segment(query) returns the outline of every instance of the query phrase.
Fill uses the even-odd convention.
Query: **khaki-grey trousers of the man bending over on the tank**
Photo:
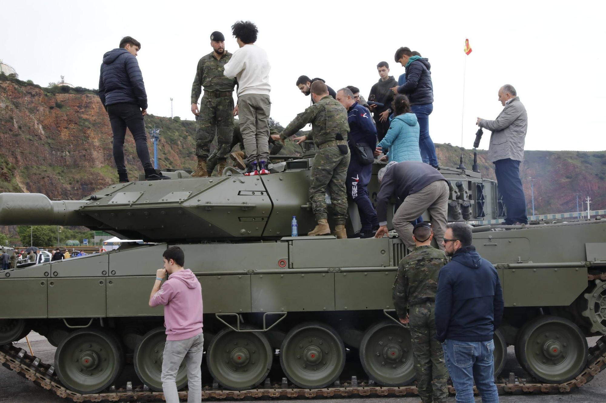
[[[393,229],[398,232],[408,249],[415,247],[413,240],[413,224],[419,215],[427,210],[431,215],[431,229],[433,237],[439,248],[444,251],[442,240],[446,232],[448,215],[448,183],[445,180],[436,180],[422,188],[420,191],[409,194],[393,215]]]

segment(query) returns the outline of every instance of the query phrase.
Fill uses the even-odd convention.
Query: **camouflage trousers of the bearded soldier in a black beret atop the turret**
[[[204,95],[196,129],[196,156],[208,159],[210,143],[217,136],[217,159],[224,160],[230,152],[233,133],[233,98]]]

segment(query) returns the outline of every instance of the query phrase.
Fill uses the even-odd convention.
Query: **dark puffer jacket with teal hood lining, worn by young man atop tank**
[[[410,105],[433,103],[433,83],[431,64],[425,57],[412,56],[406,65],[406,82],[398,87],[398,93],[405,94]]]

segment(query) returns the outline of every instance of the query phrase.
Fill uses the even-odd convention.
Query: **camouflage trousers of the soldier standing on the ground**
[[[435,339],[435,307],[433,303],[411,306],[408,317],[419,397],[424,403],[445,402],[448,370],[442,344]]]

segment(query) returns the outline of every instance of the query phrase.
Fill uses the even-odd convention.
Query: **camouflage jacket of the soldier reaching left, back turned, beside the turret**
[[[347,111],[330,95],[299,113],[292,122],[288,123],[280,137],[286,139],[292,136],[307,123],[311,123],[311,132],[306,135],[307,140],[313,140],[316,147],[331,140],[347,140],[349,133]],[[342,139],[338,138],[338,134],[341,134]]]

